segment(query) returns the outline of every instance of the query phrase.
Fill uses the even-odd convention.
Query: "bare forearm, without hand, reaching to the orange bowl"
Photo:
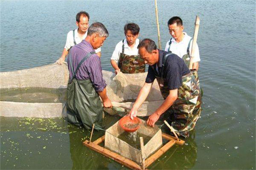
[[[142,103],[146,100],[150,90],[151,90],[151,87],[152,87],[152,83],[145,83],[143,85],[143,88],[140,89],[140,92],[139,92],[139,95],[133,105],[133,108],[140,108],[140,105],[142,105]]]

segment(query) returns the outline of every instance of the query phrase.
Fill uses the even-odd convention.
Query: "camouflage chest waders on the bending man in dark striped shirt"
[[[163,70],[167,57],[163,57],[163,66],[160,71],[161,75],[154,70],[155,77],[164,99],[169,95],[167,79],[163,78]],[[201,113],[201,91],[194,75],[190,72],[182,77],[182,85],[178,88],[178,98],[173,105],[167,110],[172,113],[172,127],[179,136],[189,137],[189,131],[195,127],[195,124]]]

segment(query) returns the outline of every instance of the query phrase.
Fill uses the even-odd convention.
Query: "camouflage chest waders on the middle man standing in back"
[[[134,74],[134,73],[144,73],[145,63],[140,55],[127,55],[125,54],[124,40],[122,40],[122,53],[120,54],[118,67],[122,73]]]

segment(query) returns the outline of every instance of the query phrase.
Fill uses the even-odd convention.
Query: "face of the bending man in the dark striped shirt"
[[[148,53],[145,47],[139,48],[140,57],[144,60],[145,64],[154,65],[157,62],[156,51],[153,50],[152,53]]]

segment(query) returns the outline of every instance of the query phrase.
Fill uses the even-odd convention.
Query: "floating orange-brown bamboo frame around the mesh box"
[[[152,154],[151,156],[148,157],[148,159],[145,160],[145,168],[149,167],[155,160],[157,160],[160,156],[166,153],[166,151],[169,150],[174,144],[183,145],[185,143],[185,141],[180,139],[177,140],[174,136],[170,136],[166,133],[162,133],[162,137],[164,139],[169,140],[169,142],[164,144],[159,150],[157,150],[154,154]],[[105,135],[100,137],[94,142],[90,142],[86,140],[83,142],[83,144],[89,147],[90,149],[101,153],[102,155],[112,158],[113,160],[119,162],[120,164],[125,165],[126,167],[129,167],[134,170],[142,170],[142,167],[140,167],[140,165],[137,164],[136,162],[130,159],[127,159],[117,153],[114,153],[111,150],[108,150],[104,147],[99,146],[99,144],[102,143],[104,140],[105,140]]]

